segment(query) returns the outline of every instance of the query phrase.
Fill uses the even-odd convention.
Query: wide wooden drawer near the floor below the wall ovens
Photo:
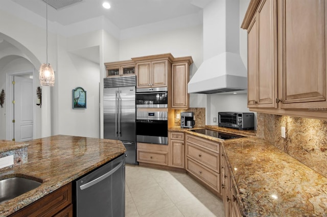
[[[137,161],[168,165],[168,153],[162,151],[137,150]]]

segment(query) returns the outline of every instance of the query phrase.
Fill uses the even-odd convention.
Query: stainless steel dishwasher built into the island
[[[125,154],[74,181],[74,215],[125,216]]]

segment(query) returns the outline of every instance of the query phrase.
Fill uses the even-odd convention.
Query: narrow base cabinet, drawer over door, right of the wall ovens
[[[169,132],[168,144],[170,146],[169,166],[184,168],[184,133],[173,131]]]

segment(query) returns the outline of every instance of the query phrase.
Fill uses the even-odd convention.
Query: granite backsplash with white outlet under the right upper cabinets
[[[258,113],[257,136],[327,177],[327,121]],[[281,137],[281,127],[286,138]]]

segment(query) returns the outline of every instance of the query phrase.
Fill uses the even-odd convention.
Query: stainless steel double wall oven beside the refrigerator
[[[168,145],[168,88],[136,89],[136,142]]]

